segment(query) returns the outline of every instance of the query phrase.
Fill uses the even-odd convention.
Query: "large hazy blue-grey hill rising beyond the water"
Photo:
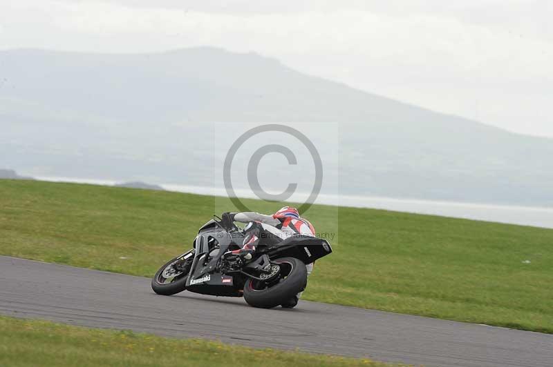
[[[212,123],[338,123],[340,192],[553,206],[553,139],[303,75],[258,54],[0,52],[0,166],[205,186]],[[455,86],[452,86],[455,88]],[[324,127],[320,129],[324,132]]]

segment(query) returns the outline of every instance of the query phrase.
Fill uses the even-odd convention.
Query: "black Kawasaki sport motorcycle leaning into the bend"
[[[245,239],[256,235],[259,245],[250,259],[234,255]],[[214,216],[194,239],[193,248],[163,265],[151,281],[158,295],[189,292],[223,297],[244,297],[259,308],[283,306],[307,286],[306,264],[332,252],[326,239],[294,235],[277,237],[274,227],[250,222],[245,228],[224,224]]]

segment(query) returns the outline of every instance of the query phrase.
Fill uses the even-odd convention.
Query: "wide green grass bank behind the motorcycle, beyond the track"
[[[0,180],[0,254],[149,277],[224,207],[176,192]],[[553,333],[553,230],[330,206],[306,217],[339,239],[305,299]]]

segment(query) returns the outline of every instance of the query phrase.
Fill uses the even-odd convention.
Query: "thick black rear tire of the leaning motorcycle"
[[[279,281],[266,284],[252,278],[247,279],[244,284],[244,299],[250,306],[273,308],[286,304],[307,286],[307,269],[303,261],[295,257],[283,257],[271,262],[281,266]]]

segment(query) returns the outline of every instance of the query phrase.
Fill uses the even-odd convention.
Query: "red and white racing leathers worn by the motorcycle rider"
[[[307,219],[299,217],[296,214],[297,210],[289,212],[290,210],[284,210],[285,208],[274,215],[259,214],[259,212],[239,212],[234,214],[234,221],[241,223],[260,222],[265,225],[263,226],[265,230],[280,239],[287,239],[293,235],[315,236],[315,228]],[[256,242],[256,238],[246,239],[244,248],[252,248],[254,242]],[[313,263],[307,264],[306,268],[308,275],[310,275],[313,271]]]

